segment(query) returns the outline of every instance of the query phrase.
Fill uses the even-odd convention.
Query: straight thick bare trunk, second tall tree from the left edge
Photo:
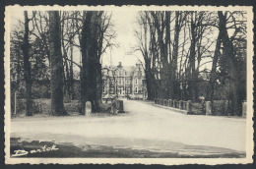
[[[58,11],[49,11],[49,47],[51,61],[51,113],[53,115],[65,115],[66,111],[63,104],[63,62]]]

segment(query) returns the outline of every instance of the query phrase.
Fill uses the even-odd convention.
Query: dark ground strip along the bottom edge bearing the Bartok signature
[[[160,151],[71,142],[20,141],[11,138],[11,157],[85,157],[85,158],[244,158],[245,153],[227,148],[185,145],[182,149]],[[18,150],[18,151],[17,151]],[[15,155],[14,155],[15,154]]]

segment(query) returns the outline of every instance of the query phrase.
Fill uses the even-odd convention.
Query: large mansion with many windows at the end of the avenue
[[[136,66],[102,68],[102,98],[126,97],[147,99],[145,73],[141,63]]]

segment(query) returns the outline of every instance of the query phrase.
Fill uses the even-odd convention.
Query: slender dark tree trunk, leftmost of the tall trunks
[[[24,53],[24,69],[25,69],[25,82],[26,82],[26,115],[32,116],[32,68],[30,63],[30,43],[29,43],[29,23],[28,11],[24,12],[25,17],[25,34],[22,44],[22,50]]]

